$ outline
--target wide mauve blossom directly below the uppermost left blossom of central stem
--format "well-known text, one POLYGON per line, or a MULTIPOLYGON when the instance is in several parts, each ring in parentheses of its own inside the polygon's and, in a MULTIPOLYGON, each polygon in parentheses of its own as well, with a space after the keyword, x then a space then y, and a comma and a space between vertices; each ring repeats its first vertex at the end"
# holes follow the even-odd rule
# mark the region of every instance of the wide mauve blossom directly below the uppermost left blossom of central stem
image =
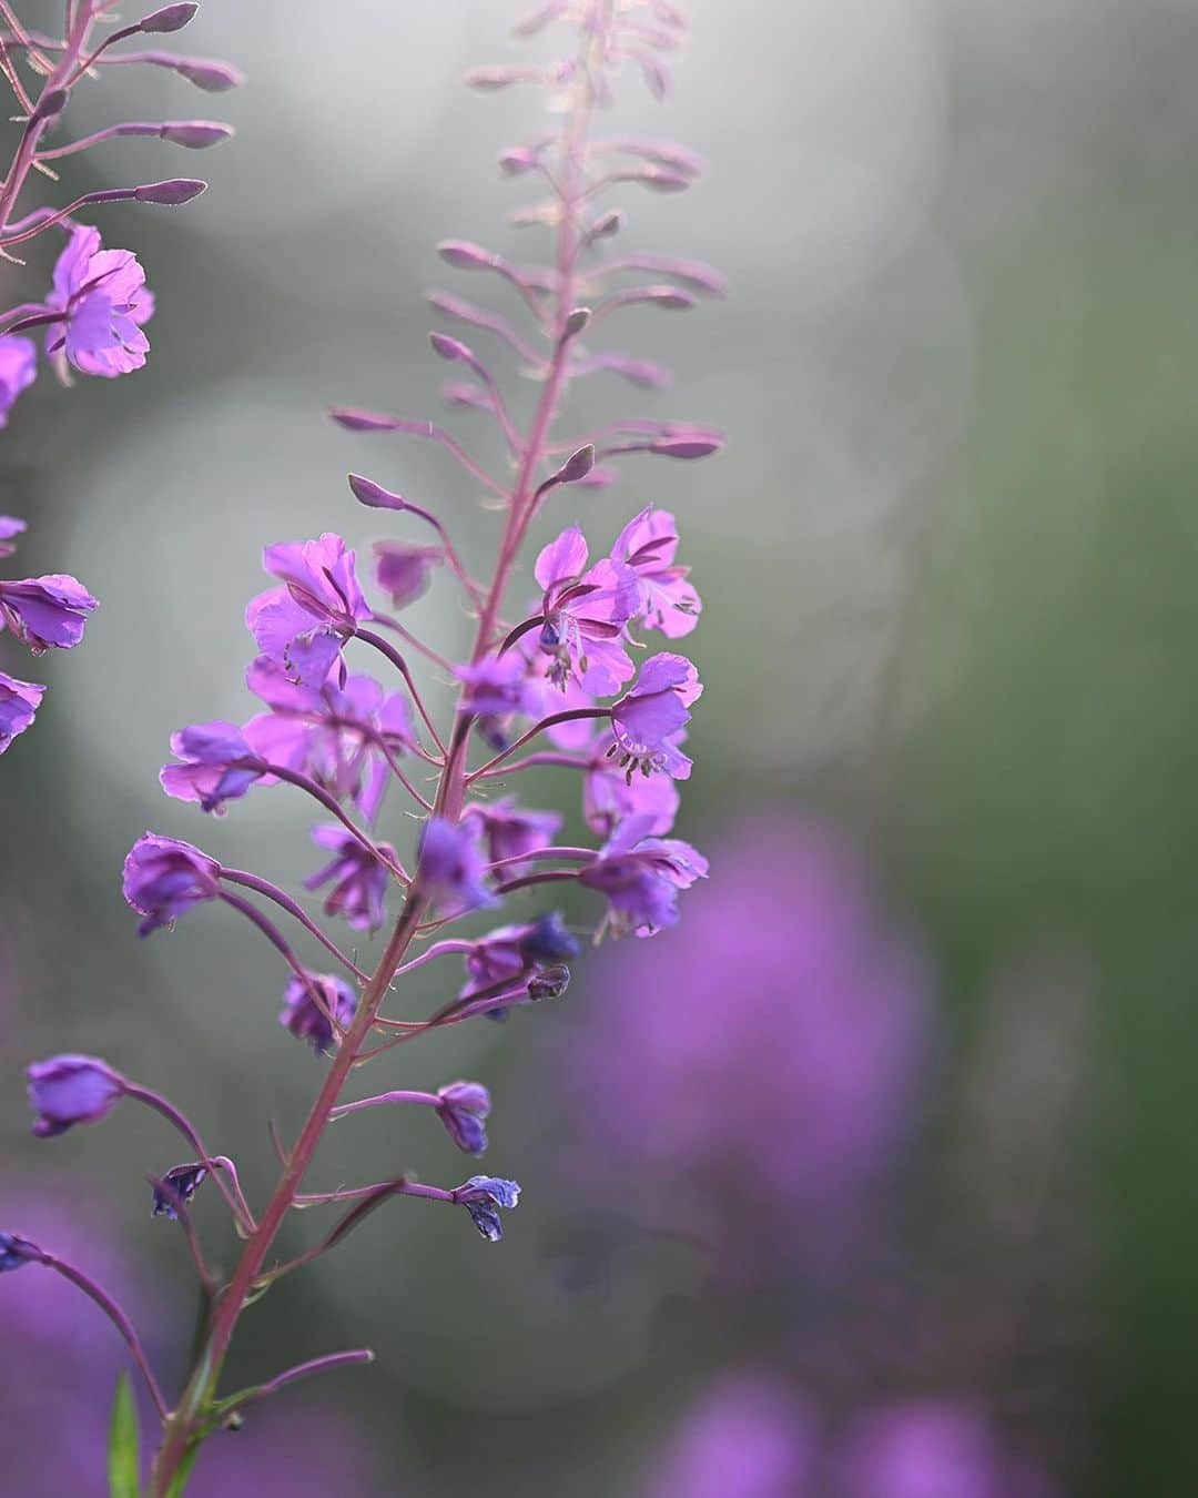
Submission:
MULTIPOLYGON (((386 695, 371 676, 338 683, 337 667, 320 686, 288 680, 286 668, 258 656, 246 685, 271 709, 241 730, 253 752, 268 764, 311 776, 338 801, 350 797, 373 819, 389 777, 386 755, 406 753, 415 743, 412 706, 398 692, 386 695)), ((273 785, 274 776, 264 776, 273 785)))

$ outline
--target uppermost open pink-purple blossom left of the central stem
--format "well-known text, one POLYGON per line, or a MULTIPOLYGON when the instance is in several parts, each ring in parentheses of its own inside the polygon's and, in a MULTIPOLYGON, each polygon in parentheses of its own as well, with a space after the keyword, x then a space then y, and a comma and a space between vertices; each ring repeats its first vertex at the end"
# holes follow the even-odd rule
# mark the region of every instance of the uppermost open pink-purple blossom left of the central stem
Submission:
POLYGON ((262 566, 280 578, 252 598, 246 625, 258 649, 286 668, 289 680, 320 686, 341 646, 370 619, 355 556, 326 530, 317 541, 283 541, 267 547, 262 566))

